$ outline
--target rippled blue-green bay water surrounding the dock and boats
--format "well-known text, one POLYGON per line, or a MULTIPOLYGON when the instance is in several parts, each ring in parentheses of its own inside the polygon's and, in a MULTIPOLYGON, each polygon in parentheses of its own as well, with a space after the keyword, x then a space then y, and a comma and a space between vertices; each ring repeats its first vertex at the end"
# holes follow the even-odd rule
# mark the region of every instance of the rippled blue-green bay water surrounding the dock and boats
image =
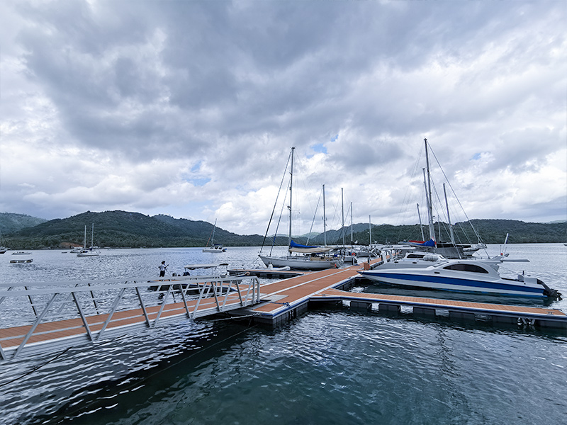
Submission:
MULTIPOLYGON (((34 251, 34 262, 21 265, 4 254, 0 281, 150 276, 162 260, 169 272, 217 260, 249 267, 257 251, 123 249, 93 258, 34 251)), ((506 268, 537 273, 567 295, 567 246, 511 245, 508 252, 531 262, 506 268)), ((567 301, 551 307, 567 312, 567 301)), ((188 320, 58 353, 0 362, 1 424, 531 425, 567 417, 561 332, 344 307, 313 310, 278 329, 188 320)))

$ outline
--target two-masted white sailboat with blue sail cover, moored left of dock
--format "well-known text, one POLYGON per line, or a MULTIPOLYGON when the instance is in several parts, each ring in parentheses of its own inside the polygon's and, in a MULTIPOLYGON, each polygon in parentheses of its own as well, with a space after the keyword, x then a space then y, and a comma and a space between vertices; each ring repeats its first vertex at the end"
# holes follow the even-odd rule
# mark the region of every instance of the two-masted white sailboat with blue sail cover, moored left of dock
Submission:
MULTIPOLYGON (((295 147, 291 148, 291 172, 289 179, 289 233, 288 233, 288 255, 286 256, 273 256, 271 255, 271 250, 269 255, 262 255, 262 249, 260 249, 260 254, 258 255, 266 267, 289 267, 296 270, 325 270, 326 268, 337 268, 342 266, 342 259, 339 256, 329 255, 330 251, 335 249, 334 246, 327 246, 327 232, 326 232, 326 217, 325 217, 325 185, 323 185, 323 225, 325 228, 325 246, 313 246, 313 245, 302 245, 293 242, 291 239, 291 219, 292 219, 292 208, 291 200, 293 193, 293 153, 295 147)), ((286 166, 287 169, 287 166, 286 166)), ((277 199, 276 199, 277 203, 277 199)), ((275 210, 275 206, 274 206, 275 210)), ((269 229, 269 225, 268 225, 269 229)), ((266 235, 268 231, 266 230, 266 235)), ((265 237, 264 237, 265 239, 265 237)), ((275 237, 274 237, 275 239, 275 237)), ((271 248, 274 246, 272 244, 271 248)))

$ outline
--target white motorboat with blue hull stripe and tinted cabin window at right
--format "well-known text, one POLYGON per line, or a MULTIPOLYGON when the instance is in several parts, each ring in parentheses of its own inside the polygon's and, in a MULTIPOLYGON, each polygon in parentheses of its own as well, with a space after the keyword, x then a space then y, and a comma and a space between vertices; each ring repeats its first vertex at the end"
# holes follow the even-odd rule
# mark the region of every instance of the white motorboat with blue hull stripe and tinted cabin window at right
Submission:
POLYGON ((561 299, 561 293, 549 288, 538 278, 519 274, 503 278, 498 273, 498 260, 446 260, 428 267, 376 268, 359 271, 370 280, 415 288, 451 290, 463 293, 550 297, 561 299))

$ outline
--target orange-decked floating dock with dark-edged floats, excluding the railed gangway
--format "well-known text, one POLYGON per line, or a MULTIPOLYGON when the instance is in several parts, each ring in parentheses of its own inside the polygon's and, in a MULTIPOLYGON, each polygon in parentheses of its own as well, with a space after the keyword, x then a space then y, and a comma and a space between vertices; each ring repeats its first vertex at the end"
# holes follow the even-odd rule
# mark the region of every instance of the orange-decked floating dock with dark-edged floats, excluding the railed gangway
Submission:
POLYGON ((351 288, 355 280, 360 278, 359 270, 372 268, 379 263, 381 259, 375 259, 369 263, 308 273, 304 276, 262 285, 262 302, 259 305, 235 310, 230 314, 252 314, 254 322, 277 325, 307 311, 310 303, 349 302, 351 308, 365 310, 371 310, 373 305, 378 305, 378 312, 400 312, 404 306, 411 307, 416 316, 435 317, 439 312, 448 312, 451 319, 473 320, 477 317, 489 317, 495 324, 517 323, 567 329, 567 314, 556 309, 352 293, 342 290, 351 288))

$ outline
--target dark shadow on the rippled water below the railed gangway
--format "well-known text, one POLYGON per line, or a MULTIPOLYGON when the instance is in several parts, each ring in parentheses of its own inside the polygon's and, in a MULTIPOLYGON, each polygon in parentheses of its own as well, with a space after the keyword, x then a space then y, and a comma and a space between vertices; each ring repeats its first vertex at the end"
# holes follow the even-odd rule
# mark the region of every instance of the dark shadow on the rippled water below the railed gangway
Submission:
POLYGON ((204 322, 193 328, 191 334, 179 336, 169 332, 169 342, 167 334, 151 341, 151 337, 138 333, 141 342, 130 335, 94 348, 72 348, 46 370, 28 370, 33 373, 22 373, 21 379, 8 382, 8 394, 4 394, 8 402, 30 387, 43 386, 43 390, 26 399, 30 406, 38 399, 42 399, 41 403, 6 423, 91 425, 119 420, 124 417, 124 406, 137 410, 167 397, 174 382, 186 375, 198 375, 199 370, 244 339, 249 329, 238 324, 204 322), (60 382, 52 390, 52 382, 43 379, 45 375, 66 375, 70 390, 62 389, 60 382))

